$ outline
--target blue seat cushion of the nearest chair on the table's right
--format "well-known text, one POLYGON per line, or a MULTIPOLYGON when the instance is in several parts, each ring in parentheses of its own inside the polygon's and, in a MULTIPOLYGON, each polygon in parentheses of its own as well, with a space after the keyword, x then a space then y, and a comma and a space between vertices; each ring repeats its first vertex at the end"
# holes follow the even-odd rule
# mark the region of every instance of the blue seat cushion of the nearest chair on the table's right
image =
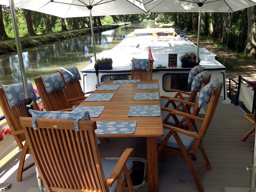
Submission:
MULTIPOLYGON (((157 137, 157 144, 161 144, 163 139, 166 137, 166 135, 169 133, 169 129, 163 129, 163 137, 157 137)), ((191 131, 192 133, 195 133, 197 134, 196 132, 194 131, 191 131)), ((177 133, 183 143, 183 145, 185 146, 186 150, 189 150, 189 148, 191 148, 191 146, 193 145, 194 141, 195 141, 195 138, 194 137, 189 137, 189 136, 186 136, 184 134, 180 134, 180 133, 177 133)), ((166 147, 171 147, 171 148, 177 148, 177 149, 180 149, 179 145, 177 144, 175 138, 173 137, 173 135, 169 138, 169 140, 167 141, 166 147)))

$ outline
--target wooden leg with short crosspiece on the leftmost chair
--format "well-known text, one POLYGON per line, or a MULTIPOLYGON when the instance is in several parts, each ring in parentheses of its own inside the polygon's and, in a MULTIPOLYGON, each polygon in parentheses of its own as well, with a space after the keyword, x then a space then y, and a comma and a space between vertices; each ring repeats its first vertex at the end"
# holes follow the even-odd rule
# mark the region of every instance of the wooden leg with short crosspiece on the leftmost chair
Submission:
POLYGON ((17 181, 22 180, 22 174, 24 171, 26 171, 27 169, 29 169, 35 165, 35 163, 33 162, 33 163, 30 163, 29 165, 27 165, 26 167, 24 167, 25 158, 26 158, 26 154, 27 154, 28 150, 29 150, 29 144, 25 141, 24 147, 23 147, 23 149, 21 149, 20 163, 19 163, 19 167, 18 167, 18 171, 17 171, 17 181))

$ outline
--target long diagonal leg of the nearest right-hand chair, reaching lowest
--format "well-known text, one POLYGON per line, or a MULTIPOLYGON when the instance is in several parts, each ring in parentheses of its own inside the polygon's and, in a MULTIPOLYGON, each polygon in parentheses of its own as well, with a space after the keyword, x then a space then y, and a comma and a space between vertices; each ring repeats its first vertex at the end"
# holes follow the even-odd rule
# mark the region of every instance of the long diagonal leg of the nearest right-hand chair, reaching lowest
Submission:
POLYGON ((203 188, 203 185, 201 183, 201 180, 200 180, 200 177, 195 169, 195 166, 194 164, 192 163, 192 160, 190 159, 189 157, 189 154, 188 154, 188 151, 186 150, 186 148, 184 147, 182 141, 180 140, 180 137, 178 136, 178 134, 175 132, 175 131, 172 131, 173 132, 173 136, 175 137, 175 140, 177 141, 179 147, 180 147, 180 150, 189 166, 189 169, 190 169, 190 172, 195 180, 195 185, 198 189, 199 192, 204 192, 204 188, 203 188))

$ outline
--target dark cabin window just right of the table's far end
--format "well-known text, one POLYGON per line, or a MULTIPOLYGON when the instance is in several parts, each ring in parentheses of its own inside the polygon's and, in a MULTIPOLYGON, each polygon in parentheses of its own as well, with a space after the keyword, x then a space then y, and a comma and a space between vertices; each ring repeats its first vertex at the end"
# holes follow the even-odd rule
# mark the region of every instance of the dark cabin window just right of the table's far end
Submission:
POLYGON ((169 89, 191 91, 188 87, 189 73, 166 73, 163 75, 163 90, 169 92, 169 89))

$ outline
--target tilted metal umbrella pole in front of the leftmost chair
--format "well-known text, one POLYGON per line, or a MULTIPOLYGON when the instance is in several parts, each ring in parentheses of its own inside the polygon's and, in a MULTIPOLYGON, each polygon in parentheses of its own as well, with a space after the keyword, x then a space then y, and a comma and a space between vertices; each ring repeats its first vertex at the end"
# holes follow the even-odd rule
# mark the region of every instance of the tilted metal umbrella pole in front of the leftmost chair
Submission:
POLYGON ((9 0, 9 4, 10 4, 10 9, 11 9, 11 15, 12 15, 12 25, 13 25, 14 34, 15 34, 15 43, 16 43, 19 64, 20 64, 21 78, 22 78, 23 87, 24 87, 24 91, 25 91, 25 97, 26 97, 26 99, 28 99, 29 98, 29 90, 28 90, 28 85, 26 83, 26 73, 25 73, 25 67, 24 67, 24 63, 23 63, 22 49, 21 49, 21 44, 20 44, 20 35, 19 35, 19 31, 18 31, 18 26, 17 26, 15 7, 14 7, 13 0, 9 0))

